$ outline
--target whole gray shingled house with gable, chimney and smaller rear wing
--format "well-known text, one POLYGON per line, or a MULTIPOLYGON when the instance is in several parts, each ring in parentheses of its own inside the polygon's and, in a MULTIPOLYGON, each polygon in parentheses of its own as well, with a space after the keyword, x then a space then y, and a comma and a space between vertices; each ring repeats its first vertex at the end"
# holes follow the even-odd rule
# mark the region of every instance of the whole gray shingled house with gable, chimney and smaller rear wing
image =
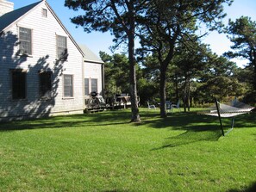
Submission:
POLYGON ((82 114, 84 94, 103 92, 103 62, 87 59, 46 1, 13 7, 0 0, 0 121, 82 114))

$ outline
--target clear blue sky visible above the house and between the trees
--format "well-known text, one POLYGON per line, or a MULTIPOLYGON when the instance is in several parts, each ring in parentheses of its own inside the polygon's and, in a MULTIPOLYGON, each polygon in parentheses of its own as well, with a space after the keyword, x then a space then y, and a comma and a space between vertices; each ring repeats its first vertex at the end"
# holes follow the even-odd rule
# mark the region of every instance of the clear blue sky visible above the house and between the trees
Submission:
MULTIPOLYGON (((30 3, 38 2, 38 0, 9 0, 15 3, 15 9, 22 6, 26 6, 30 3)), ((53 8, 54 12, 59 16, 61 22, 64 23, 68 31, 72 34, 72 37, 78 42, 78 44, 85 44, 91 51, 98 55, 99 51, 111 53, 109 46, 113 45, 112 37, 109 33, 92 32, 86 34, 83 28, 78 27, 70 22, 70 18, 78 13, 64 7, 64 0, 47 0, 47 3, 53 8)), ((253 21, 256 21, 256 1, 255 0, 234 0, 234 3, 228 7, 225 6, 224 12, 227 13, 226 18, 223 20, 225 24, 228 24, 228 19, 232 21, 239 18, 241 15, 249 16, 253 21)), ((218 34, 217 32, 211 32, 207 37, 203 38, 203 42, 210 45, 211 50, 218 55, 230 50, 231 42, 226 37, 226 34, 218 34)), ((234 59, 239 66, 245 65, 247 60, 234 59)))

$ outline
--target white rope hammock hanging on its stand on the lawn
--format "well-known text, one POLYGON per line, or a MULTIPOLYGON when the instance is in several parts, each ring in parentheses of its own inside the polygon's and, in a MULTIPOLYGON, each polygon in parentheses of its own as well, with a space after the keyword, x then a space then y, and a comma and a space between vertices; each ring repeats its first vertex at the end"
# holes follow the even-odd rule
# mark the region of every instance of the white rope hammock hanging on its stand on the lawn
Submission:
POLYGON ((209 112, 204 113, 204 115, 211 115, 211 116, 217 116, 219 117, 219 121, 222 128, 222 135, 227 135, 230 131, 234 128, 234 116, 247 114, 251 110, 253 110, 253 107, 243 103, 239 102, 236 99, 231 102, 231 105, 222 104, 221 102, 217 102, 215 99, 215 107, 211 107, 209 112), (232 117, 232 123, 231 128, 228 130, 227 133, 224 133, 223 127, 222 127, 222 117, 232 117))

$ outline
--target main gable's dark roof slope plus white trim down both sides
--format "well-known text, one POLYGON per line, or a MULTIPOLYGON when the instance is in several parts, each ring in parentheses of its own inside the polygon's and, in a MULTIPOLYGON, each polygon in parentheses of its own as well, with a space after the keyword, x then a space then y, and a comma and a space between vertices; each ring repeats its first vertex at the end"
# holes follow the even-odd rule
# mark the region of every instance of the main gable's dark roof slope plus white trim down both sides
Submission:
POLYGON ((63 23, 59 20, 59 17, 55 14, 55 12, 51 8, 51 6, 47 3, 46 0, 41 0, 40 2, 29 4, 28 6, 13 10, 9 13, 6 13, 0 16, 0 33, 4 29, 8 28, 12 23, 17 22, 17 20, 22 18, 22 16, 28 14, 30 10, 34 9, 40 3, 46 3, 47 8, 51 11, 54 18, 57 20, 57 22, 59 22, 59 25, 65 30, 66 34, 68 34, 68 37, 72 40, 74 45, 78 48, 78 51, 84 56, 84 52, 82 51, 82 49, 78 46, 77 42, 72 38, 72 35, 68 32, 68 30, 65 28, 63 23))

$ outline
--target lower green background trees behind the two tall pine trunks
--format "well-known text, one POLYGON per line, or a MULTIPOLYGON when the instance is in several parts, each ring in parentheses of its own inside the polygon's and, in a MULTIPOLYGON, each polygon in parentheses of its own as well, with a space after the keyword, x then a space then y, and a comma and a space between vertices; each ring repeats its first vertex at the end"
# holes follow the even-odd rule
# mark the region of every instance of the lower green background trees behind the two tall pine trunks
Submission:
MULTIPOLYGON (((128 57, 125 53, 100 52, 105 63, 105 96, 129 93, 128 57)), ((136 57, 137 90, 140 104, 159 100, 160 65, 157 54, 136 57)), ((209 46, 190 42, 177 46, 166 70, 166 101, 183 101, 185 110, 212 103, 216 97, 230 101, 234 96, 255 103, 252 66, 238 67, 227 57, 212 53, 209 46)))

